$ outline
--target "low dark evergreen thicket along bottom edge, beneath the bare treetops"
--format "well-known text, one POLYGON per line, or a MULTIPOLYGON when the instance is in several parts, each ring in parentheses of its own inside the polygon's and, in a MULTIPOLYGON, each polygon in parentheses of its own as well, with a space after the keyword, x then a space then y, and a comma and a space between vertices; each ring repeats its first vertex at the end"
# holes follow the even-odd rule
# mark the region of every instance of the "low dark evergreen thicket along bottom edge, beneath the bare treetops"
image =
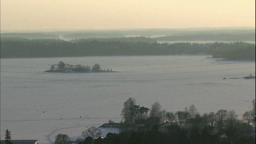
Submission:
MULTIPOLYGON (((242 124, 241 124, 242 125, 242 124)), ((237 129, 240 136, 234 138, 222 138, 215 134, 216 130, 212 126, 198 128, 192 126, 190 129, 182 128, 177 125, 165 127, 165 132, 160 131, 158 126, 153 126, 146 131, 129 131, 108 133, 104 138, 87 137, 76 144, 255 144, 255 137, 242 136, 251 127, 245 124, 237 129), (233 143, 232 143, 233 142, 233 143)))

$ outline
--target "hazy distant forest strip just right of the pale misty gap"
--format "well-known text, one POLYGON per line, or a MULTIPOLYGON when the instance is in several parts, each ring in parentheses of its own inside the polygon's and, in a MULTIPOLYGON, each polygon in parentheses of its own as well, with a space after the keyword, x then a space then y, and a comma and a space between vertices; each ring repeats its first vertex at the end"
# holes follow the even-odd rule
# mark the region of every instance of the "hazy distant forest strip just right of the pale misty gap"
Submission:
POLYGON ((123 34, 117 33, 80 33, 80 34, 64 34, 63 38, 80 39, 80 38, 121 38, 125 37, 123 34))

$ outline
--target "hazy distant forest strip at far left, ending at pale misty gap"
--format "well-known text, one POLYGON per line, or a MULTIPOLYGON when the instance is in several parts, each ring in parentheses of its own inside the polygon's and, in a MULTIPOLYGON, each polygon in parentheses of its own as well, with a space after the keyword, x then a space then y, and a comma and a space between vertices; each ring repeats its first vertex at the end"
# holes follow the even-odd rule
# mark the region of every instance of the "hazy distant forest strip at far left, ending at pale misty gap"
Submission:
POLYGON ((2 37, 10 37, 10 38, 27 38, 27 39, 54 39, 59 38, 56 34, 41 34, 41 33, 2 33, 2 37))

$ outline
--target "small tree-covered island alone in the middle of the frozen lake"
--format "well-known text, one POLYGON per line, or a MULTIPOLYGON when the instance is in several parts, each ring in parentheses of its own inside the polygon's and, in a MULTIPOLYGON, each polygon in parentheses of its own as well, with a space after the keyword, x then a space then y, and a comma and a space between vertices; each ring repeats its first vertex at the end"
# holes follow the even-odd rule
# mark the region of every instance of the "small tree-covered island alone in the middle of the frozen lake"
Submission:
POLYGON ((50 70, 46 70, 45 72, 114 72, 112 68, 104 68, 100 67, 100 64, 94 64, 92 68, 88 65, 84 66, 82 64, 65 64, 60 61, 58 64, 52 64, 50 70))

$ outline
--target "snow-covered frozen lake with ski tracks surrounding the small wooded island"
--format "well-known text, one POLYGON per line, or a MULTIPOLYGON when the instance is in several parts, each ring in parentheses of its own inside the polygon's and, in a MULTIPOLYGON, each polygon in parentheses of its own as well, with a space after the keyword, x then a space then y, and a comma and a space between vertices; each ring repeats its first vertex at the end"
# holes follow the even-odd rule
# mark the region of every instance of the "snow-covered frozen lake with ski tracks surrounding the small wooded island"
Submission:
MULTIPOLYGON (((1 139, 53 143, 59 133, 73 140, 90 126, 122 120, 124 102, 176 112, 194 104, 200 114, 236 110, 239 118, 255 98, 255 62, 197 56, 98 56, 1 59, 1 139), (112 68, 109 73, 48 73, 51 64, 112 68), (226 78, 225 80, 223 78, 226 78), (238 78, 238 79, 230 79, 238 78), (81 118, 80 118, 81 116, 81 118)), ((117 129, 102 129, 102 136, 117 129)))

